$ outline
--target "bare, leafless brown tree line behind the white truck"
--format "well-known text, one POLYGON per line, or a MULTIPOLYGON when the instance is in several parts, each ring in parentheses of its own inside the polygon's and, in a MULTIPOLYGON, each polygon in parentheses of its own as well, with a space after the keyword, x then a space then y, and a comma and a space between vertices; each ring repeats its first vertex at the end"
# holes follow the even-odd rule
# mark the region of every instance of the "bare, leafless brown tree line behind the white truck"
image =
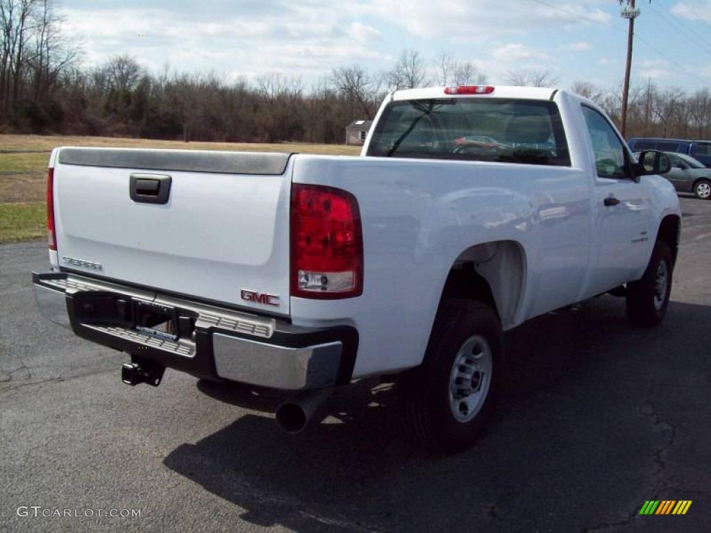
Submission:
MULTIPOLYGON (((184 141, 341 143, 355 119, 372 119, 387 92, 488 82, 471 60, 403 50, 389 70, 333 69, 309 87, 299 77, 255 80, 213 73, 148 72, 117 55, 87 68, 61 33, 53 0, 0 0, 0 131, 133 136, 184 141)), ((550 86, 550 71, 510 70, 510 85, 550 86)), ((575 82, 619 123, 621 86, 575 82)), ((630 136, 711 137, 711 94, 648 82, 631 90, 630 136)))

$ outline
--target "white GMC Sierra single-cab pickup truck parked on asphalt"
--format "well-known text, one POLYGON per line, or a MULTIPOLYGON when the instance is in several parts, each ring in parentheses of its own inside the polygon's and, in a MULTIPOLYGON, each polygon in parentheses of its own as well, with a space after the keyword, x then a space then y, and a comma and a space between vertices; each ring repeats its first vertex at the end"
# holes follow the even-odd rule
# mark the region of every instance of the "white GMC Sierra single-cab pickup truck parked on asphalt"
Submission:
POLYGON ((502 331, 611 292, 665 314, 680 238, 668 158, 638 163, 563 90, 387 96, 360 157, 63 147, 49 162, 43 314, 165 367, 294 391, 300 431, 334 387, 394 377, 429 448, 469 446, 502 331))

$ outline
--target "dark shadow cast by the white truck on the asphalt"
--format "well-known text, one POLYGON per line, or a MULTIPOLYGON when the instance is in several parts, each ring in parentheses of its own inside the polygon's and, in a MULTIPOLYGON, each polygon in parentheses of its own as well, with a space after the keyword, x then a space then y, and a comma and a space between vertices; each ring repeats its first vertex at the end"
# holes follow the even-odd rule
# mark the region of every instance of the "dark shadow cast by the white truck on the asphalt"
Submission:
MULTIPOLYGON (((680 499, 711 479, 699 466, 702 445, 680 438, 688 426, 705 426, 695 428, 705 442, 711 432, 703 323, 711 324, 711 307, 672 302, 659 328, 635 329, 624 301, 603 297, 510 331, 498 411, 476 446, 454 456, 410 443, 393 387, 370 380, 342 389, 324 421, 298 436, 279 431, 272 416, 247 414, 178 446, 164 464, 237 505, 235 519, 296 532, 624 524, 638 519, 644 500, 680 499)), ((262 412, 286 397, 198 387, 262 412)))

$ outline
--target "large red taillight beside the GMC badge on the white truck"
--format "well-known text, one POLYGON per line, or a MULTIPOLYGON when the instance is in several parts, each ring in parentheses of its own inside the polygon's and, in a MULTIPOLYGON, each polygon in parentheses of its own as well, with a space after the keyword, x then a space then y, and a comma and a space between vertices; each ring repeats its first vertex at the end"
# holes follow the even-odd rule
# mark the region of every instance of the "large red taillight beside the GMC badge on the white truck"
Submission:
POLYGON ((363 293, 358 201, 345 190, 292 185, 292 296, 351 298, 363 293))

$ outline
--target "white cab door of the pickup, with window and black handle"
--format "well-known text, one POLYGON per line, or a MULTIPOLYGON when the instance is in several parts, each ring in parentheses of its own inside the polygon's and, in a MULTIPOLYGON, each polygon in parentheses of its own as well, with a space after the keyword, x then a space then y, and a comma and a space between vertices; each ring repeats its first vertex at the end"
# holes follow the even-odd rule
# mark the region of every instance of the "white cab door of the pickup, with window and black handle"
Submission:
POLYGON ((649 186, 631 178, 624 141, 596 109, 583 106, 583 115, 594 155, 593 262, 587 287, 592 296, 634 279, 656 236, 649 186))

